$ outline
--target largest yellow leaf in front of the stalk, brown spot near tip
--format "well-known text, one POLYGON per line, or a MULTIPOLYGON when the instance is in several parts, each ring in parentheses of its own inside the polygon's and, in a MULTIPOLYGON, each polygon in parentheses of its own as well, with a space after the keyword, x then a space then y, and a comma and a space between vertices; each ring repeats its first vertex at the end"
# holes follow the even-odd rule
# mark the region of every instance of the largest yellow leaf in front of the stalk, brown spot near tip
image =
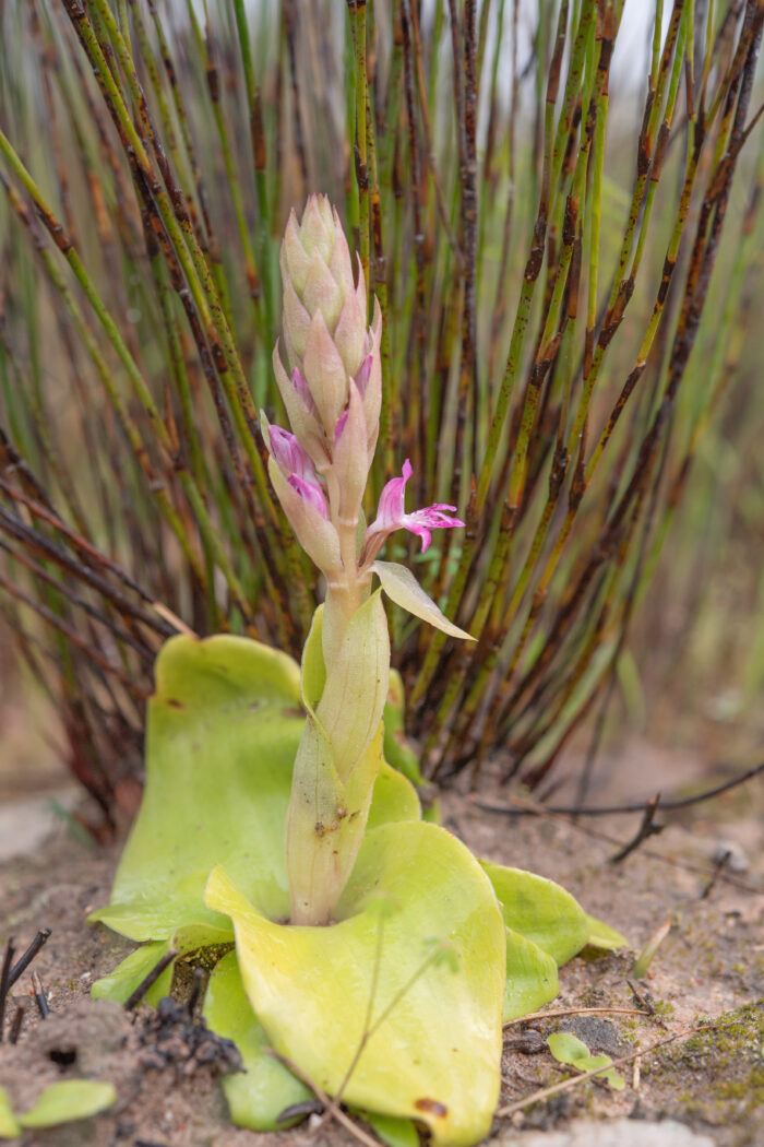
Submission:
POLYGON ((234 921, 244 986, 270 1041, 315 1083, 330 1094, 344 1083, 373 992, 347 1103, 423 1121, 435 1145, 487 1134, 506 930, 489 881, 455 837, 422 821, 369 832, 330 928, 274 923, 222 868, 206 897, 234 921), (438 959, 446 949, 456 973, 438 959))

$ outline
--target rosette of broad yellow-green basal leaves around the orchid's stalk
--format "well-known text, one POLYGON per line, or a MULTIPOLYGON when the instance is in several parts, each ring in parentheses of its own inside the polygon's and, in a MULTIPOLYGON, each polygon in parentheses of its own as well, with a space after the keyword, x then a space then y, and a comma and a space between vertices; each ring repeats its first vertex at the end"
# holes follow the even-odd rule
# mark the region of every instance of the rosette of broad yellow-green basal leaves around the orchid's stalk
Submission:
MULTIPOLYGON (((291 658, 245 638, 163 649, 143 803, 111 904, 90 918, 148 943, 94 994, 124 1001, 171 947, 179 959, 206 949, 222 959, 205 1017, 244 1060, 223 1083, 236 1123, 284 1126, 281 1113, 308 1095, 273 1046, 391 1140, 416 1119, 434 1142, 466 1147, 490 1125, 502 1021, 552 999, 558 963, 585 944, 622 937, 551 881, 479 865, 420 820, 415 788, 384 760, 336 923, 285 923, 284 830, 302 699, 315 713, 324 695, 320 646, 321 615, 301 681, 291 658)), ((394 701, 385 738, 401 748, 394 701)), ((379 735, 372 744, 379 754, 379 735)))

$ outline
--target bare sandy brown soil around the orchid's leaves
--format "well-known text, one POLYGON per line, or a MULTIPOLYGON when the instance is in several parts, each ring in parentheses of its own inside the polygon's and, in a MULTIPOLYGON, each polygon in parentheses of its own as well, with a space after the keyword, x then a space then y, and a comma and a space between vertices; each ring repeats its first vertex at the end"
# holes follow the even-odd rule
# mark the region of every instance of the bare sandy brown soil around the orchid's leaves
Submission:
MULTIPOLYGON (((664 781, 671 775, 667 760, 653 755, 649 768, 635 771, 648 790, 655 779, 651 768, 657 768, 664 781)), ((680 781, 682 770, 675 777, 680 781)), ((640 795, 639 787, 635 785, 635 795, 640 795)), ((503 794, 494 789, 488 797, 498 803, 503 794)), ((7 804, 6 814, 11 809, 7 804)), ((633 953, 597 959, 584 953, 562 969, 560 996, 546 1009, 577 1014, 550 1015, 506 1029, 502 1107, 514 1105, 514 1109, 497 1118, 489 1142, 533 1147, 548 1141, 549 1147, 574 1147, 586 1141, 607 1147, 611 1141, 631 1141, 627 1132, 638 1130, 635 1122, 645 1129, 635 1144, 659 1142, 648 1136, 648 1128, 663 1136, 661 1142, 676 1147, 685 1141, 694 1147, 764 1142, 763 813, 759 780, 712 804, 667 816, 660 836, 622 864, 612 865, 608 857, 616 850, 615 842, 633 834, 638 818, 572 825, 566 818, 487 813, 456 793, 443 798, 444 822, 479 856, 560 880, 589 912, 620 928, 635 950, 671 920, 671 931, 639 985, 652 1015, 583 1012, 638 1006, 627 983, 633 953), (735 863, 746 868, 723 874, 708 890, 714 852, 725 842, 734 845, 735 863), (664 1048, 656 1046, 704 1020, 716 1020, 719 1027, 684 1036, 664 1048), (565 1028, 593 1052, 614 1059, 639 1051, 639 1058, 622 1069, 624 1091, 615 1093, 605 1084, 589 1082, 520 1108, 536 1090, 569 1074, 544 1045, 546 1035, 565 1028), (616 1132, 619 1139, 607 1138, 616 1132)), ((118 1091, 118 1101, 108 1114, 27 1133, 24 1147, 344 1147, 354 1142, 336 1123, 316 1126, 316 1117, 278 1134, 233 1131, 219 1085, 222 1061, 213 1058, 211 1063, 184 1070, 150 1066, 156 1060, 150 1054, 156 1038, 152 1011, 142 1008, 137 1016, 128 1016, 116 1005, 92 1002, 88 994, 93 980, 129 950, 127 942, 105 928, 85 923, 87 912, 108 898, 117 849, 87 849, 58 820, 45 842, 30 845, 27 840, 22 851, 0 865, 0 943, 13 935, 22 950, 39 928, 53 930, 34 963, 49 993, 50 1016, 40 1021, 25 976, 9 1006, 11 1014, 19 1004, 26 1006, 24 1024, 16 1045, 0 1046, 0 1083, 17 1109, 30 1106, 42 1086, 56 1079, 109 1079, 118 1091)))

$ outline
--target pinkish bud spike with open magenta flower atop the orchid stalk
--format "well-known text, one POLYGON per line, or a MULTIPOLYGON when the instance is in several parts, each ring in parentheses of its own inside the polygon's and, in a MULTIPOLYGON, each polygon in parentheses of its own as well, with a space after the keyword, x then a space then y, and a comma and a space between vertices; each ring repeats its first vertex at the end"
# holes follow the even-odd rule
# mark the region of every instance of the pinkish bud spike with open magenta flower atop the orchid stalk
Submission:
POLYGON ((325 196, 312 195, 302 221, 290 216, 281 251, 284 345, 274 370, 292 432, 263 420, 269 473, 297 538, 326 578, 324 651, 337 648, 347 622, 368 595, 371 567, 387 536, 401 526, 422 537, 462 525, 452 506, 403 510, 403 477, 385 486, 376 521, 359 544, 359 520, 379 434, 381 314, 375 299, 367 326, 367 290, 357 283, 341 224, 325 196))

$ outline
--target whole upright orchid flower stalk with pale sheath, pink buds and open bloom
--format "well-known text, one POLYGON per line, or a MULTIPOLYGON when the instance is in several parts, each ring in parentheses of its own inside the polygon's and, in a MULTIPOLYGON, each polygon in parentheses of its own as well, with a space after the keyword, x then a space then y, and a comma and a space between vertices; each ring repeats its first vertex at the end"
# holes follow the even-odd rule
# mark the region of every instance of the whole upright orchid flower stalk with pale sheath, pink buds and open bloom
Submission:
POLYGON ((268 471, 298 541, 325 579, 302 657, 306 731, 294 763, 286 825, 291 920, 326 924, 353 868, 381 764, 381 718, 389 639, 377 574, 388 596, 454 635, 450 625, 394 563, 377 563, 387 537, 407 529, 427 549, 432 530, 463 525, 456 507, 407 514, 405 484, 392 478, 363 530, 363 499, 379 435, 381 312, 367 289, 337 212, 325 196, 292 211, 281 250, 283 346, 274 372, 291 431, 262 414, 268 471), (357 278, 357 282, 356 282, 357 278), (285 361, 282 359, 282 350, 285 361))

